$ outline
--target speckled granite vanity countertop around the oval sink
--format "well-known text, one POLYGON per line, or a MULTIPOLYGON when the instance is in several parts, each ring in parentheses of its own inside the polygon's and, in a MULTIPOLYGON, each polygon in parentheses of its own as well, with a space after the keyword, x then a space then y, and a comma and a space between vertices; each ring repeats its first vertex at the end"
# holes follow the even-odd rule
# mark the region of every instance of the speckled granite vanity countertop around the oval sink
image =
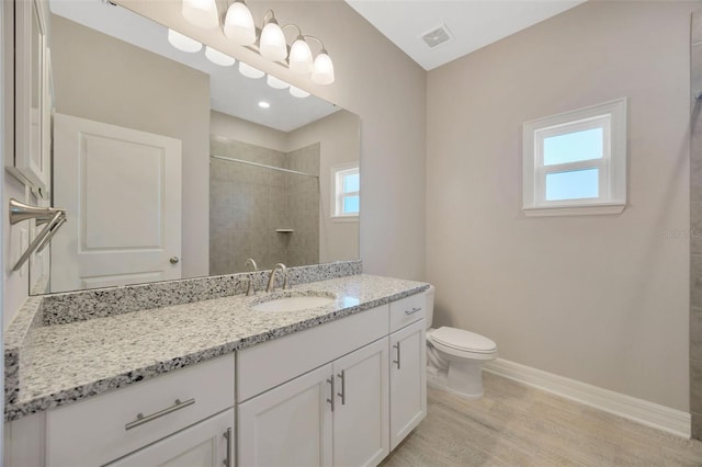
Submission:
POLYGON ((38 326, 21 349, 19 392, 5 420, 76 402, 426 291, 429 284, 366 274, 235 295, 67 324, 38 326), (327 293, 301 311, 254 311, 265 296, 327 293))

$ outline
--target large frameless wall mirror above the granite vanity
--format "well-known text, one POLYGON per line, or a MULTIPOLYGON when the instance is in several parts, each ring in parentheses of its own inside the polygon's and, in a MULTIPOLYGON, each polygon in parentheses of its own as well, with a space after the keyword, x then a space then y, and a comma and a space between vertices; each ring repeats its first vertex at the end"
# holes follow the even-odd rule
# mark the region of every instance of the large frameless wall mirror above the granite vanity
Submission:
POLYGON ((177 49, 110 2, 49 9, 53 195, 69 223, 48 292, 359 258, 356 115, 177 49))

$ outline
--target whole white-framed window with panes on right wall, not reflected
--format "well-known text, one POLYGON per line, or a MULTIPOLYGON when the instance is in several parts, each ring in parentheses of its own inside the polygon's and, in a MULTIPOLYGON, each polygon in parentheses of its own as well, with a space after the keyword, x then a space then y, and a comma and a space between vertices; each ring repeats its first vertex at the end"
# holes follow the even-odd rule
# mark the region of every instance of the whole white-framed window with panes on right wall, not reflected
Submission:
POLYGON ((619 214, 626 205, 626 99, 523 125, 528 216, 619 214))

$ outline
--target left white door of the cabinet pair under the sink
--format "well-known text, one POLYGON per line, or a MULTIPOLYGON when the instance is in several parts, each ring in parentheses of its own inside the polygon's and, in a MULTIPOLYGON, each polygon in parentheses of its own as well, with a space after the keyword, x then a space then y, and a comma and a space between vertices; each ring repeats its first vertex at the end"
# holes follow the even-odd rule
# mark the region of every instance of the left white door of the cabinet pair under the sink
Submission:
POLYGON ((240 467, 331 465, 331 371, 327 364, 239 405, 240 467))

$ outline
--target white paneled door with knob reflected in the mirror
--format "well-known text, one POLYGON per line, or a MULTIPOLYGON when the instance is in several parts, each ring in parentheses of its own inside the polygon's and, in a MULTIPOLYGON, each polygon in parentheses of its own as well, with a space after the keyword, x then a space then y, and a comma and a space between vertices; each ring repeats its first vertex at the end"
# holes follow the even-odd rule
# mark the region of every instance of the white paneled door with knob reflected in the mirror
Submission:
POLYGON ((181 277, 180 140, 56 114, 54 161, 52 292, 181 277))

